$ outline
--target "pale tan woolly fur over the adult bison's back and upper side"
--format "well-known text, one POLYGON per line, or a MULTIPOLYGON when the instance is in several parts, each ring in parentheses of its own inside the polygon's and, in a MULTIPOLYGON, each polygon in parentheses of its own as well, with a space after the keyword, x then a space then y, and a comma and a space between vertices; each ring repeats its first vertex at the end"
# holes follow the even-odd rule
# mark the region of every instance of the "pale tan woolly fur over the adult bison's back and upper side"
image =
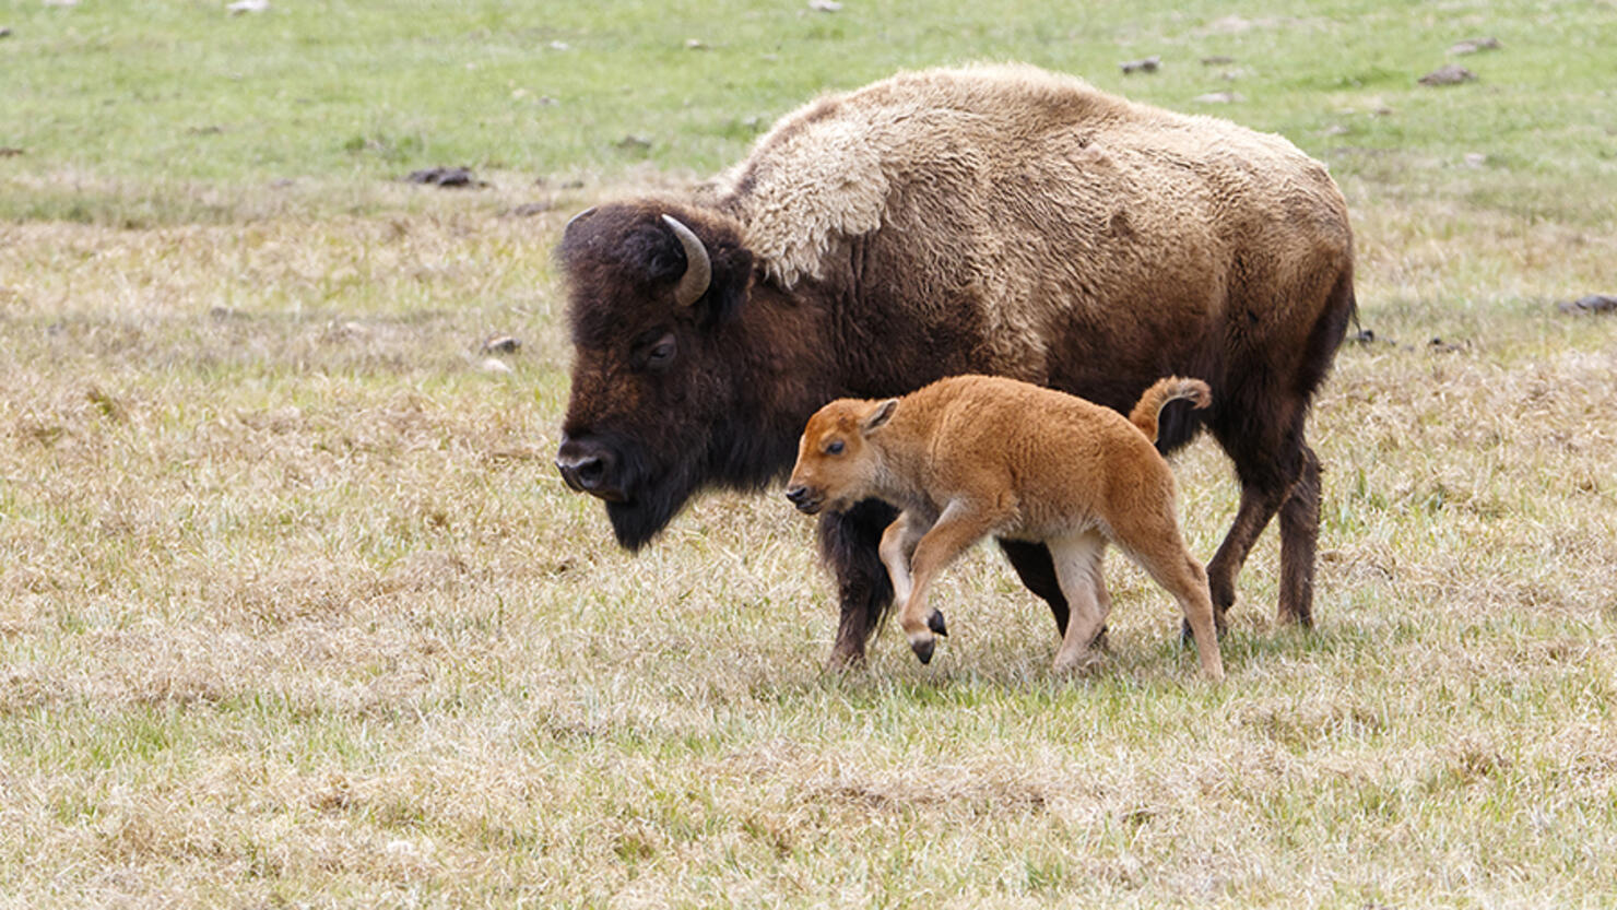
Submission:
POLYGON ((1352 246, 1324 165, 1287 139, 1017 63, 899 73, 821 97, 699 197, 736 218, 784 286, 821 278, 839 242, 883 226, 938 239, 969 230, 969 244, 917 251, 931 262, 915 270, 978 291, 994 372, 1033 381, 1048 328, 1069 317, 1051 286, 1122 307, 1143 304, 1142 262, 1218 288, 1232 242, 1287 273, 1340 262, 1352 246), (1109 233, 1129 242, 1093 236, 1109 233), (1054 260, 1053 249, 1075 255, 1054 260))

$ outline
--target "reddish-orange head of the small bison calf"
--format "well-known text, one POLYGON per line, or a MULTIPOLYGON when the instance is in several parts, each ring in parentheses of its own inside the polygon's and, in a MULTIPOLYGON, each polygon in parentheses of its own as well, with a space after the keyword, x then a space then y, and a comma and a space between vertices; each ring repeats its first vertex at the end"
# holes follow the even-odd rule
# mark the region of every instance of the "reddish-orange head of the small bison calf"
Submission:
POLYGON ((872 436, 893 419, 897 404, 896 398, 842 398, 808 419, 797 441, 797 466, 786 483, 786 498, 797 511, 841 512, 876 491, 881 449, 872 436))

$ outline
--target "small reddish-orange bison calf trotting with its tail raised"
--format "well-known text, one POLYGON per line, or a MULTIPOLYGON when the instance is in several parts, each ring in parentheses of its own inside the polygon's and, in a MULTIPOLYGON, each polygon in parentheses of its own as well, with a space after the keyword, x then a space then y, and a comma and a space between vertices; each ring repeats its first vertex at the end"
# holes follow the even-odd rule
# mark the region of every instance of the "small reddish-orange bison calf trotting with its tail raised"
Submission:
POLYGON ((880 553, 922 663, 944 630, 927 609, 928 585, 996 535, 1049 548, 1072 609, 1054 668, 1079 666, 1111 608, 1101 582, 1109 540, 1179 600, 1203 674, 1222 679, 1208 577, 1179 535, 1174 475, 1155 448, 1158 412, 1180 398, 1206 407, 1211 393, 1200 380, 1158 380, 1127 419, 1003 377, 946 378, 884 401, 844 398, 808 419, 786 496, 808 514, 867 498, 901 509, 880 553))

